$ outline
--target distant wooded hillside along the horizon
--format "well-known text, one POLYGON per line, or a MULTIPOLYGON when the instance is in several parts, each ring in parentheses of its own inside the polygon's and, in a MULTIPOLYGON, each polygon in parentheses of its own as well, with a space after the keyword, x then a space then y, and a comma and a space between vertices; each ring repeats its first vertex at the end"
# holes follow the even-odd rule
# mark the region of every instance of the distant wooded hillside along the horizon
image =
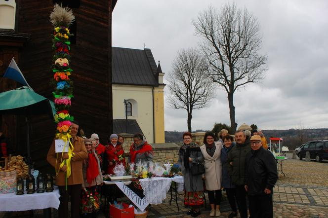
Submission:
MULTIPOLYGON (((288 129, 288 130, 262 130, 268 144, 270 137, 283 138, 283 145, 289 150, 311 140, 328 140, 328 129, 288 129)), ((206 130, 196 130, 195 132, 206 132, 206 130)), ((184 132, 165 131, 165 142, 181 143, 184 132)))

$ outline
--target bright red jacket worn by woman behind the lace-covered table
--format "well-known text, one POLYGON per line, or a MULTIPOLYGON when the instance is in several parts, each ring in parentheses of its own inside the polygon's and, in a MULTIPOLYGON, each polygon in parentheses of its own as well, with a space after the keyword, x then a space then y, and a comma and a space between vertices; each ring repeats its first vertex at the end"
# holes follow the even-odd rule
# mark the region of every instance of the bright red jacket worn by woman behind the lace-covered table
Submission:
POLYGON ((116 163, 120 164, 123 163, 125 166, 125 159, 123 158, 122 161, 119 161, 119 155, 124 155, 123 146, 121 144, 117 144, 115 147, 112 144, 109 144, 106 146, 106 154, 107 154, 107 161, 108 161, 108 167, 107 167, 107 174, 114 174, 113 170, 116 166, 116 163), (113 165, 109 165, 110 162, 113 162, 113 165))

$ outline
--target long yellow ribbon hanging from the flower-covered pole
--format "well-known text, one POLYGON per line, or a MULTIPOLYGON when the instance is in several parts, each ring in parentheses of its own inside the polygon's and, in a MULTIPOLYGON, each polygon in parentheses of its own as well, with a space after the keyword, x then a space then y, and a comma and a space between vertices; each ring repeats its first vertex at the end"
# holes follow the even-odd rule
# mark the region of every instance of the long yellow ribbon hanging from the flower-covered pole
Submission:
POLYGON ((65 143, 65 146, 63 148, 63 152, 62 152, 62 162, 59 166, 59 169, 58 169, 58 172, 57 172, 57 158, 58 158, 58 153, 57 153, 57 157, 56 157, 56 176, 58 175, 59 173, 59 170, 64 166, 66 165, 66 177, 69 178, 71 176, 71 173, 72 173, 72 168, 71 168, 71 159, 72 157, 74 157, 74 153, 73 153, 73 150, 74 150, 74 146, 72 145, 71 143, 71 134, 67 133, 67 134, 62 134, 62 133, 57 133, 56 134, 56 138, 57 139, 61 139, 64 141, 65 143), (65 159, 63 160, 63 154, 64 154, 64 150, 66 148, 66 142, 69 141, 70 144, 68 145, 68 159, 65 159), (66 161, 66 162, 65 162, 66 161))

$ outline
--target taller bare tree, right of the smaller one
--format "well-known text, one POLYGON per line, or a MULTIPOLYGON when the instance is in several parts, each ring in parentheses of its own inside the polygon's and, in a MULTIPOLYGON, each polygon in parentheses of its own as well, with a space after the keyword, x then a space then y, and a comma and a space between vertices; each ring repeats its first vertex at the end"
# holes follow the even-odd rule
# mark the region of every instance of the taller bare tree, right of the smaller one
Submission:
POLYGON ((267 57, 258 54, 262 40, 257 18, 246 8, 226 4, 220 12, 209 6, 193 25, 203 39, 201 48, 209 76, 228 94, 231 128, 236 131, 234 93, 263 79, 266 71, 267 57))

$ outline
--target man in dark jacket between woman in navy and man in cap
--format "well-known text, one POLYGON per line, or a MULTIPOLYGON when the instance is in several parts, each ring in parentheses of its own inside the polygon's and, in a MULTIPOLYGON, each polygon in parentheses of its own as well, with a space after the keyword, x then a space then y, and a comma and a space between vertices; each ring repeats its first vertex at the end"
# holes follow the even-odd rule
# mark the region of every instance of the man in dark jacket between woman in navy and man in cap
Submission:
POLYGON ((236 146, 228 153, 228 173, 231 182, 236 185, 236 198, 241 218, 247 218, 246 191, 245 191, 245 159, 251 150, 249 138, 242 130, 235 133, 236 146))

